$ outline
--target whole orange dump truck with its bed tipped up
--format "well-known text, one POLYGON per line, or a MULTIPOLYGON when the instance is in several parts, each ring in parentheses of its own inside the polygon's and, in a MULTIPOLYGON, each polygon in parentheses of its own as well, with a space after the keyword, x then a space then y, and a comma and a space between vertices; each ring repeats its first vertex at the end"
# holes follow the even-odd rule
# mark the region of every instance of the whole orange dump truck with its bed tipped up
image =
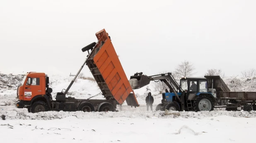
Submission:
POLYGON ((88 55, 77 75, 86 64, 106 98, 105 100, 66 97, 77 75, 67 89, 57 92, 56 100, 53 100, 49 77, 45 73, 29 72, 24 76, 22 85, 17 89, 19 101, 16 102, 16 107, 27 108, 31 113, 50 110, 116 111, 116 105, 121 105, 124 101, 130 106, 138 107, 138 101, 118 59, 110 36, 103 29, 96 33, 96 37, 97 42, 82 48, 82 52, 87 51, 88 55))

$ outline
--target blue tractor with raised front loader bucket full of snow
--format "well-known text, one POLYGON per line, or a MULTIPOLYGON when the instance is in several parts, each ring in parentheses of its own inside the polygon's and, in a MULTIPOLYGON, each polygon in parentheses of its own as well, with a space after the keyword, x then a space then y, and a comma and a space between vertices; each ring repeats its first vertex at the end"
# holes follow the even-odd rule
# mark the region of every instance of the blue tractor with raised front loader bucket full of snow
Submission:
MULTIPOLYGON (((215 104, 215 96, 209 91, 208 79, 205 77, 184 77, 178 84, 171 73, 159 75, 142 75, 135 73, 130 79, 137 79, 139 89, 149 84, 150 81, 164 82, 168 89, 162 93, 162 103, 156 110, 176 111, 212 111, 215 104)), ((213 91, 213 90, 212 90, 213 91)))

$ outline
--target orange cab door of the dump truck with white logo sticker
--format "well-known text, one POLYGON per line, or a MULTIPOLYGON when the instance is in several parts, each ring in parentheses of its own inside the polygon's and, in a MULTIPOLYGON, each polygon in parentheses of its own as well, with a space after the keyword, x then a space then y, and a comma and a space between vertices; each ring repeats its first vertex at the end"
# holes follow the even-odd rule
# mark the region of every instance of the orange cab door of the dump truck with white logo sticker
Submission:
POLYGON ((24 85, 24 101, 30 101, 36 95, 42 95, 42 81, 40 77, 27 77, 26 84, 24 85), (32 83, 31 83, 32 82, 32 83), (31 83, 31 84, 30 84, 31 83))

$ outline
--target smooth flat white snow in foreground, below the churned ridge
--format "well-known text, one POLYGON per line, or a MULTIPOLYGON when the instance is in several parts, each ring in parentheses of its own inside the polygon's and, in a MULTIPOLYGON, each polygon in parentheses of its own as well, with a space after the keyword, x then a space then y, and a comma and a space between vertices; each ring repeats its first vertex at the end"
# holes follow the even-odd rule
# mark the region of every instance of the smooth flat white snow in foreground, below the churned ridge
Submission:
MULTIPOLYGON (((144 111, 143 113, 148 113, 144 111)), ((143 114, 142 113, 142 114, 143 114)), ((255 118, 69 116, 55 120, 0 120, 1 141, 19 143, 244 143, 254 142, 255 118)), ((122 114, 122 113, 120 113, 122 114)), ((191 113, 193 114, 193 113, 191 113)), ((254 113, 253 113, 254 114, 254 113)))

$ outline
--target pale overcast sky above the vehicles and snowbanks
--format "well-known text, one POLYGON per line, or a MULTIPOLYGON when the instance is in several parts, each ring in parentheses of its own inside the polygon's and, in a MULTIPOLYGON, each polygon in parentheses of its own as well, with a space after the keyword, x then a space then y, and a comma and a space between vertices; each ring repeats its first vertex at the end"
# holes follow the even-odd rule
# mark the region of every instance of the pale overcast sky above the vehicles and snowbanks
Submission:
MULTIPOLYGON (((0 0, 0 72, 76 74, 105 28, 127 77, 256 68, 255 0, 0 0)), ((89 68, 82 70, 88 76, 89 68)))

